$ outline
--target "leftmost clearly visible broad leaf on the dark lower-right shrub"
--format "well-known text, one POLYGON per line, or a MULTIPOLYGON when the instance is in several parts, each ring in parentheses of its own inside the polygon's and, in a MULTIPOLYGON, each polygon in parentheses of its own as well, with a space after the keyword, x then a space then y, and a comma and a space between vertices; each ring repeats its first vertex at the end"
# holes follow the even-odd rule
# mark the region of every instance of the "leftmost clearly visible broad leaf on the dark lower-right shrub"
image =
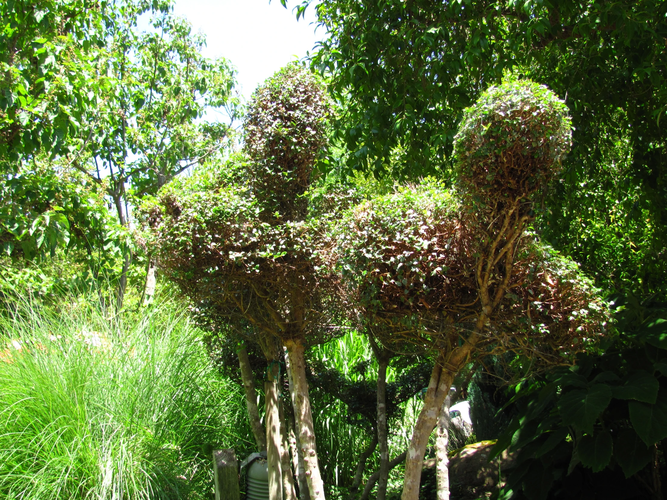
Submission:
POLYGON ((594 384, 590 389, 565 393, 558 402, 558 410, 566 425, 593 433, 593 424, 612 399, 612 389, 606 384, 594 384))

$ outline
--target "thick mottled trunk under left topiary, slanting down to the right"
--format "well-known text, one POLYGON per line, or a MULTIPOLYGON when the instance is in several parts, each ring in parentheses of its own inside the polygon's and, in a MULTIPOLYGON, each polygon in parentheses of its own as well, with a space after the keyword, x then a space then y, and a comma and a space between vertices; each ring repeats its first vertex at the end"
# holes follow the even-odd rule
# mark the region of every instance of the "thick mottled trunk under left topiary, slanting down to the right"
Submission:
POLYGON ((289 369, 293 386, 293 403, 295 421, 299 423, 299 445, 303 452, 303 465, 308 483, 311 500, 324 500, 324 483, 319 473, 317 450, 315 449, 315 431, 313 416, 310 411, 308 397, 308 383, 305 379, 305 359, 303 359, 303 344, 299 341, 288 340, 289 369))

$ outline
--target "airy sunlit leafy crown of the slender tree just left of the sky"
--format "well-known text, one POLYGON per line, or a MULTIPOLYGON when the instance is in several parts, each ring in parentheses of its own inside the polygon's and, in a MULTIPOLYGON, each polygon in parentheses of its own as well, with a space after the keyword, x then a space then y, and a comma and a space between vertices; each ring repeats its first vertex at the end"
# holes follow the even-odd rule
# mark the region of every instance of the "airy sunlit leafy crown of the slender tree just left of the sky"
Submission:
POLYGON ((141 5, 126 7, 99 55, 111 81, 75 141, 73 164, 97 183, 99 169, 109 171, 111 197, 123 194, 121 185, 128 183, 129 194, 141 198, 215 155, 230 129, 204 121, 205 111, 226 109, 233 120, 238 99, 233 67, 203 57, 205 39, 185 19, 167 6, 153 11, 154 31, 139 32, 141 5))

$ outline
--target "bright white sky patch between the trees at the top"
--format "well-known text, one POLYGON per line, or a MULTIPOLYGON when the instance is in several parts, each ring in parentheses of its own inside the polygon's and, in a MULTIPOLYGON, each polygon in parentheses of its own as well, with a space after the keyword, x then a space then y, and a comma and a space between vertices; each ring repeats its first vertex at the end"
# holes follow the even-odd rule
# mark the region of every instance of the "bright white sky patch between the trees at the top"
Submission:
POLYGON ((304 57, 325 36, 323 28, 315 33, 313 6, 297 22, 295 5, 296 0, 288 1, 287 9, 279 0, 270 5, 269 0, 175 0, 174 13, 206 35, 206 57, 225 57, 237 68, 247 100, 259 83, 304 57))

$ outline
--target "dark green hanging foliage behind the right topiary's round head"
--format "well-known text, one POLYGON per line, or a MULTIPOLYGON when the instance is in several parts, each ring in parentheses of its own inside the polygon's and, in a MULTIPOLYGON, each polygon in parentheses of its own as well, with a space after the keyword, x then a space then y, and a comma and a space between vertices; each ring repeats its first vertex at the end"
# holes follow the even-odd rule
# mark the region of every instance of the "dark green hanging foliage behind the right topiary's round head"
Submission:
POLYGON ((530 78, 573 125, 536 229, 599 287, 665 295, 664 3, 305 0, 297 17, 311 4, 342 175, 450 179, 464 109, 508 75, 530 78))

